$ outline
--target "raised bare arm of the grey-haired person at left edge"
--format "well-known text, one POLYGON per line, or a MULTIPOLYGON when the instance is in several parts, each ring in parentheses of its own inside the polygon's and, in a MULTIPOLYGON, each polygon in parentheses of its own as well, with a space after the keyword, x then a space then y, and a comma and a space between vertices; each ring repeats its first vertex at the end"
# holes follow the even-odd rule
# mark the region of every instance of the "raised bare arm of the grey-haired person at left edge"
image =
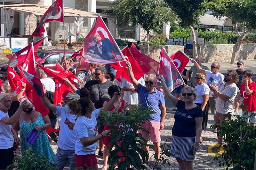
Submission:
POLYGON ((28 105, 27 100, 24 100, 20 107, 17 109, 17 111, 14 113, 14 115, 12 115, 12 117, 4 117, 1 120, 1 123, 5 124, 5 125, 13 125, 19 118, 20 118, 20 114, 22 112, 23 109, 25 109, 28 105))

